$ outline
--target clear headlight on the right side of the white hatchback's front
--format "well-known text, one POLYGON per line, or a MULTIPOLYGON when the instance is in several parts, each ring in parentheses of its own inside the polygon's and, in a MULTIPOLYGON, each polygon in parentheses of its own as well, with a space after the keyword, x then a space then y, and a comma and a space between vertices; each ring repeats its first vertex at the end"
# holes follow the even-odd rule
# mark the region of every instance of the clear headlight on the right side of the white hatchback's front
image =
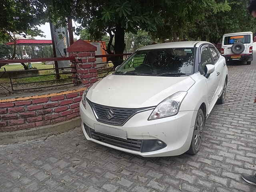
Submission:
POLYGON ((160 102, 150 114, 148 120, 160 119, 178 114, 180 104, 186 94, 186 91, 180 91, 160 102))

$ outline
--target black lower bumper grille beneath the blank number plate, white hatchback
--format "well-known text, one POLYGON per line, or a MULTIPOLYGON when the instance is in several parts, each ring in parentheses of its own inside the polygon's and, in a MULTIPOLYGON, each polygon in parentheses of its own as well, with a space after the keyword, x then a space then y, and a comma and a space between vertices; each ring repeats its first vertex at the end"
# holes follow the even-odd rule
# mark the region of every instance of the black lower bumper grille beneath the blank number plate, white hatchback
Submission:
POLYGON ((117 147, 133 150, 133 151, 141 151, 142 140, 139 139, 122 139, 115 136, 110 136, 107 134, 95 132, 93 129, 90 129, 91 138, 98 140, 100 142, 104 142, 110 145, 114 145, 117 147))

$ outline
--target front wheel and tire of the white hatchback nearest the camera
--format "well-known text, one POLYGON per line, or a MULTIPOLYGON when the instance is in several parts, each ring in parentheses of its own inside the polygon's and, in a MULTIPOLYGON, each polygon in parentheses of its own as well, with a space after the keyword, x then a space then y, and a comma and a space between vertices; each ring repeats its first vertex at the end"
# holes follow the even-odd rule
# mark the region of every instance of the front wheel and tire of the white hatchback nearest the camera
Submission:
POLYGON ((192 141, 190 144, 190 148, 187 151, 190 155, 195 155, 201 148, 202 144, 202 132, 204 130, 204 112, 200 108, 196 115, 196 122, 194 126, 194 132, 192 136, 192 141))

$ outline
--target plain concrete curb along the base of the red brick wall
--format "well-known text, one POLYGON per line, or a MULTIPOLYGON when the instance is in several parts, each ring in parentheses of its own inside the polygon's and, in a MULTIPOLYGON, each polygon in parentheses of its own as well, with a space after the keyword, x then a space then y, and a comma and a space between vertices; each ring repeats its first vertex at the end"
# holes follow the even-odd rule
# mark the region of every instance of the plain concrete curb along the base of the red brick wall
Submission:
POLYGON ((10 144, 20 141, 32 140, 42 136, 65 132, 81 126, 81 118, 77 117, 72 120, 60 122, 53 125, 32 128, 29 130, 18 130, 13 132, 0 133, 0 144, 10 144))

